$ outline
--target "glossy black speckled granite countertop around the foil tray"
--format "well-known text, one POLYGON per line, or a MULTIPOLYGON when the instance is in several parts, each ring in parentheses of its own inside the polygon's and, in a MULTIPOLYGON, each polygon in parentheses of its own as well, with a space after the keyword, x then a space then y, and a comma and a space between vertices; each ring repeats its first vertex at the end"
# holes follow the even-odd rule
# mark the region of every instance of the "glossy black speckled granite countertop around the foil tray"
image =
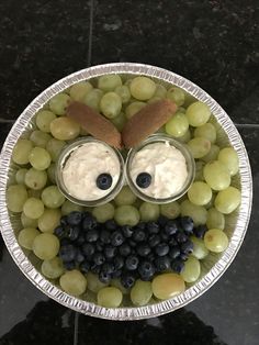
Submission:
MULTIPOLYGON (((225 108, 259 187, 258 1, 1 0, 0 14, 0 144, 29 102, 59 78, 90 65, 140 62, 191 79, 225 108)), ((245 242, 210 291, 177 312, 127 324, 48 300, 0 240, 0 345, 259 344, 257 205, 255 193, 245 242)))

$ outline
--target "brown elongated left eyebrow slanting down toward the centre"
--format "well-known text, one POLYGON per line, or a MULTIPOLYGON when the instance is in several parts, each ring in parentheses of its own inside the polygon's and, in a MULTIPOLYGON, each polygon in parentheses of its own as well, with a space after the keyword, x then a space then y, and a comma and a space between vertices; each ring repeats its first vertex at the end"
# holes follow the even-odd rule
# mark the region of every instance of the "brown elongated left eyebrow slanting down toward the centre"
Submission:
POLYGON ((92 136, 113 147, 122 148, 122 135, 114 124, 87 104, 71 102, 67 107, 66 113, 92 136))

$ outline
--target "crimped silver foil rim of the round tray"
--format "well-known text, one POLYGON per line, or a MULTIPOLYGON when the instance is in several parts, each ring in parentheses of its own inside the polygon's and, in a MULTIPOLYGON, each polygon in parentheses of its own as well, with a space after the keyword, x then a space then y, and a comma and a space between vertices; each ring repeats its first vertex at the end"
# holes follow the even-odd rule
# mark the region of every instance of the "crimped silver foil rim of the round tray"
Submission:
POLYGON ((204 90, 199 88, 188 79, 171 73, 169 70, 154 67, 149 65, 135 64, 135 63, 115 63, 100 66, 93 66, 71 74, 59 81, 52 85, 38 97, 36 97, 29 107, 22 112, 13 127, 11 129, 5 143, 2 147, 0 155, 0 230, 5 242, 5 245, 22 272, 41 291, 54 299, 55 301, 81 312, 87 315, 110 319, 110 320, 139 320, 153 316, 159 316, 165 313, 171 312, 181 308, 189 302, 193 301, 207 289, 210 289, 217 279, 224 274, 227 267, 235 258, 248 226, 252 203, 252 178, 249 165, 249 159, 245 145, 237 132, 234 123, 228 118, 226 112, 221 105, 207 94, 204 90), (241 203, 238 212, 227 218, 227 235, 229 245, 222 255, 210 255, 202 266, 202 278, 192 287, 172 298, 170 300, 157 302, 155 304, 139 307, 139 308, 116 308, 106 309, 99 307, 94 303, 87 302, 79 298, 71 297, 61 291, 58 287, 49 282, 41 272, 35 268, 31 260, 26 257, 23 249, 20 247, 15 236, 15 224, 18 220, 15 216, 10 215, 7 202, 5 190, 9 178, 9 172, 12 170, 11 155, 12 149, 18 138, 32 126, 31 120, 34 114, 56 93, 67 89, 71 85, 93 77, 99 77, 105 74, 132 74, 132 75, 146 75, 158 79, 161 84, 173 84, 181 87, 200 101, 206 103, 212 113, 217 120, 218 135, 222 135, 223 141, 229 142, 236 149, 239 157, 239 179, 234 179, 234 185, 241 189, 241 203), (221 129, 223 131, 221 131, 221 129))

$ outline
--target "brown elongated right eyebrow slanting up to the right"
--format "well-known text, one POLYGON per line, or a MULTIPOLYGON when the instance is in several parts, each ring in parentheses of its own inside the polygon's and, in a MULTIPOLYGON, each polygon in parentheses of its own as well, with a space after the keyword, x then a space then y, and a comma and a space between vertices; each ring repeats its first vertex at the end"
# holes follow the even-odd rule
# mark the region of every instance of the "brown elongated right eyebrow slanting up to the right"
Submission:
POLYGON ((177 111, 170 100, 159 100, 142 108, 125 124, 122 141, 125 147, 134 147, 158 131, 177 111))

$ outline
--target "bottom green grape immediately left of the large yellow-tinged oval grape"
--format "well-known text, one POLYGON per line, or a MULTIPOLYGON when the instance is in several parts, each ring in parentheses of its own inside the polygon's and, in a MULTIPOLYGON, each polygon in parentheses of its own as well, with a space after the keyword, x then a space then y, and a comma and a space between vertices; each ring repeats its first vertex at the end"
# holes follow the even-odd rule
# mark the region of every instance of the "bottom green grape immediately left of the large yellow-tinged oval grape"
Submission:
POLYGON ((131 290, 131 300, 134 305, 146 305, 153 297, 150 281, 143 281, 138 279, 131 290))

